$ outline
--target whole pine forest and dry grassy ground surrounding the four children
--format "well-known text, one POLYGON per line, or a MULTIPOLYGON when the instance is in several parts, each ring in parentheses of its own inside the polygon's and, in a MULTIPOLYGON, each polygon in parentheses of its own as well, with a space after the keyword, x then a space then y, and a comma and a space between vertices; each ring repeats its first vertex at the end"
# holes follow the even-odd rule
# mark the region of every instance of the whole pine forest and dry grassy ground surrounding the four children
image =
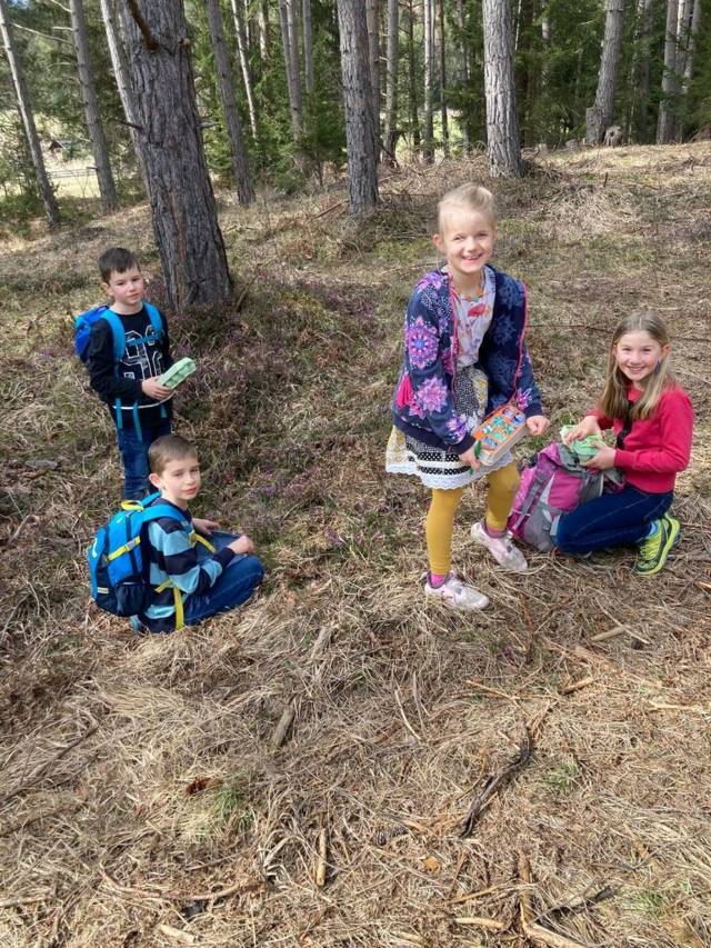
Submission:
POLYGON ((708 3, 0 0, 0 942, 711 945, 708 3), (652 585, 625 552, 502 575, 472 491, 454 550, 491 609, 414 595, 427 498, 384 476, 388 403, 467 180, 529 287, 553 432, 621 315, 670 325, 698 422, 652 585), (199 512, 269 568, 170 637, 88 601, 121 478, 71 326, 116 243, 199 366, 176 422, 199 512))

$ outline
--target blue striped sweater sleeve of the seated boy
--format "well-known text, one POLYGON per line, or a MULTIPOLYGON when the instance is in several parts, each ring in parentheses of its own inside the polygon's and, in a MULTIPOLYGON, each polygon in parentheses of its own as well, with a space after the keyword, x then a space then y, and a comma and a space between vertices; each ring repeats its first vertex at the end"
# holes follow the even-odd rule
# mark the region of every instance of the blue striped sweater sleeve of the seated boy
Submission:
POLYGON ((151 580, 158 579, 153 576, 153 567, 157 566, 181 592, 189 596, 207 592, 234 557, 234 552, 226 547, 213 556, 199 559, 190 535, 170 518, 161 517, 149 523, 148 540, 152 547, 151 580))

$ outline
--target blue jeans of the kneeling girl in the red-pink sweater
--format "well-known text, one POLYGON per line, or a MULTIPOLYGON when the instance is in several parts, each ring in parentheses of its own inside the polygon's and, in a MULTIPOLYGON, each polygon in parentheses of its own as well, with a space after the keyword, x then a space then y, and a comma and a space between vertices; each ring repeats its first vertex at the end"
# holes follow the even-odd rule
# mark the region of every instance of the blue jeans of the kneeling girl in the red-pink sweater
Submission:
POLYGON ((585 553, 604 547, 639 543, 671 507, 674 495, 648 493, 628 486, 582 503, 558 521, 555 546, 567 553, 585 553))

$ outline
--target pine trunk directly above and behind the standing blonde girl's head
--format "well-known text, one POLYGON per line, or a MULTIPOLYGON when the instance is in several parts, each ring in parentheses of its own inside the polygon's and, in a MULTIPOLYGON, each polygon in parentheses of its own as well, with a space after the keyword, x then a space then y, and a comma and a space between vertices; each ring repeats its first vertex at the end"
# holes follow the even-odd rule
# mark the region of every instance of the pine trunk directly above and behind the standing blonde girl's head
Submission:
POLYGON ((492 178, 521 178, 509 0, 483 0, 487 143, 492 178))

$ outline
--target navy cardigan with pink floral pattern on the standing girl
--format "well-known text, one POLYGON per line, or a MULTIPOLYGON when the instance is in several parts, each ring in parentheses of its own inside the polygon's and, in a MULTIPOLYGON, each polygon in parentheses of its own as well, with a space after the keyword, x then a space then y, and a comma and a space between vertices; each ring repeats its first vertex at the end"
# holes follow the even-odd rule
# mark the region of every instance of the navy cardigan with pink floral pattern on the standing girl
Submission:
MULTIPOLYGON (((489 379, 487 415, 513 397, 527 418, 542 415, 541 393, 523 343, 525 287, 499 270, 494 270, 494 277, 493 316, 477 362, 489 379)), ((439 269, 422 277, 408 303, 404 359, 392 399, 392 416, 405 435, 433 447, 452 447, 461 455, 473 445, 473 438, 464 416, 454 410, 455 365, 451 281, 439 269)))

